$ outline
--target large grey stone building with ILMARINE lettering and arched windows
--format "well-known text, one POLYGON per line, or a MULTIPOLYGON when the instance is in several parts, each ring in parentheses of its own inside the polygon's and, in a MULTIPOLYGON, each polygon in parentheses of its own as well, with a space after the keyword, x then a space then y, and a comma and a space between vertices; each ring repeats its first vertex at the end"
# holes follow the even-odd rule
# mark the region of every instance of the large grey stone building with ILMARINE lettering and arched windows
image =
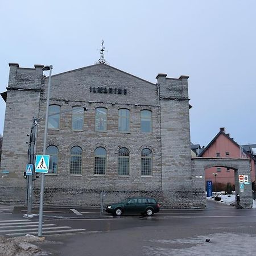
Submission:
MULTIPOLYGON (((1 93, 0 201, 24 203, 27 134, 37 117, 36 154, 43 154, 49 77, 43 65, 9 65, 7 92, 1 93)), ((160 73, 156 80, 106 64, 51 77, 45 204, 99 205, 105 190, 106 203, 147 195, 166 207, 205 207, 204 174, 192 174, 188 76, 160 73)), ((35 203, 39 192, 40 178, 34 181, 35 203)))

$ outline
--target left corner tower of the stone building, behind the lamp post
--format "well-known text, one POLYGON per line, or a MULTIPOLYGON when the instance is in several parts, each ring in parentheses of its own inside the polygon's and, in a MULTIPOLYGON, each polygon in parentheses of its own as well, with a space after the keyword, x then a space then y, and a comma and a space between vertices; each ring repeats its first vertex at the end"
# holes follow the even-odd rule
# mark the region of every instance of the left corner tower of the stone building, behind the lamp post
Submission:
MULTIPOLYGON (((1 171, 6 173, 0 179, 0 200, 8 200, 15 191, 16 201, 24 200, 20 189, 26 186, 22 179, 27 164, 27 134, 30 134, 32 117, 38 116, 43 65, 35 68, 20 68, 9 63, 5 126, 3 130, 1 171)), ((23 190, 22 190, 23 191, 23 190)))

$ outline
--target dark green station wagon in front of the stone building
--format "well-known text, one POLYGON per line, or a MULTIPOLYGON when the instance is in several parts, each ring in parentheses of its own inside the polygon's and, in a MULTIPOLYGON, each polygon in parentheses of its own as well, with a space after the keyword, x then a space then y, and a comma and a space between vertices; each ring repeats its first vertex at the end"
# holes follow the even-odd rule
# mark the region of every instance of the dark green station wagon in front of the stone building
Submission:
POLYGON ((152 216, 159 212, 159 204, 154 198, 130 197, 119 203, 106 205, 105 210, 115 216, 121 216, 123 213, 141 213, 152 216))

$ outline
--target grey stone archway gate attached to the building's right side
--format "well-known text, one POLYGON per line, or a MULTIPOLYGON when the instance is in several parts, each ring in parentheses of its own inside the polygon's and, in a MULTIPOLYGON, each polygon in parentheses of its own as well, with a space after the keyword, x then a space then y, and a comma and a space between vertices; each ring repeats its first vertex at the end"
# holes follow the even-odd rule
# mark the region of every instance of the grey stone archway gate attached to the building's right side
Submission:
POLYGON ((210 167, 225 167, 234 170, 236 193, 240 195, 243 208, 252 207, 250 159, 247 158, 191 158, 193 207, 206 208, 205 199, 205 169, 210 167), (249 183, 244 184, 240 191, 239 175, 248 175, 249 183))

